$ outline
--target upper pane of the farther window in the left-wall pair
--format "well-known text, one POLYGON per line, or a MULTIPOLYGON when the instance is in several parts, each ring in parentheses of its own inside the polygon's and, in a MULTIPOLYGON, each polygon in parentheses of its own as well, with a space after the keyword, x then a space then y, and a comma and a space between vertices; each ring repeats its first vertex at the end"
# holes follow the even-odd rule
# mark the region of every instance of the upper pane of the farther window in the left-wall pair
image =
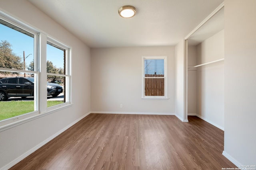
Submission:
POLYGON ((47 72, 65 74, 64 53, 66 50, 47 42, 47 72))

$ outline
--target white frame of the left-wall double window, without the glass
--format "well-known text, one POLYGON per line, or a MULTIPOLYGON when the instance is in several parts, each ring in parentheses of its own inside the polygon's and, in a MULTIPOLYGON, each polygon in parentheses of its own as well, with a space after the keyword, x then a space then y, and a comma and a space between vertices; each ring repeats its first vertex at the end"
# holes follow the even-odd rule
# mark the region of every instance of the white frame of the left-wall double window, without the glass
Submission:
MULTIPOLYGON (((18 70, 18 69, 9 69, 9 68, 0 68, 0 71, 8 72, 24 72, 27 74, 33 73, 35 75, 34 80, 34 109, 30 113, 25 113, 16 117, 10 117, 0 121, 0 132, 6 129, 10 129, 22 123, 26 123, 33 119, 54 113, 66 107, 72 106, 71 102, 71 47, 68 47, 64 43, 60 43, 45 33, 34 29, 33 27, 22 23, 21 21, 8 16, 7 14, 0 11, 0 19, 4 20, 20 29, 23 29, 29 33, 34 34, 34 71, 30 70, 18 70), (47 94, 45 93, 46 87, 43 85, 46 84, 46 43, 50 41, 63 49, 66 50, 66 74, 57 74, 57 76, 66 77, 66 102, 56 106, 47 108, 47 94), (45 62, 44 62, 45 61, 45 62)), ((48 73, 47 73, 48 74, 48 73)), ((47 77, 47 76, 46 76, 47 77)))

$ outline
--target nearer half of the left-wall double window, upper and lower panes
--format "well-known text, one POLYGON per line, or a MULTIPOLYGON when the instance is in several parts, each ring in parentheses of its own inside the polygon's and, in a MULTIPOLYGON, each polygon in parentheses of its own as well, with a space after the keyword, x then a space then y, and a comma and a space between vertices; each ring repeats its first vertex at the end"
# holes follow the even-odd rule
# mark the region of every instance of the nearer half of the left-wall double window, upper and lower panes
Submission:
MULTIPOLYGON (((37 112, 34 65, 37 33, 22 25, 0 20, 0 121, 37 112)), ((13 120, 10 120, 13 121, 13 120)))

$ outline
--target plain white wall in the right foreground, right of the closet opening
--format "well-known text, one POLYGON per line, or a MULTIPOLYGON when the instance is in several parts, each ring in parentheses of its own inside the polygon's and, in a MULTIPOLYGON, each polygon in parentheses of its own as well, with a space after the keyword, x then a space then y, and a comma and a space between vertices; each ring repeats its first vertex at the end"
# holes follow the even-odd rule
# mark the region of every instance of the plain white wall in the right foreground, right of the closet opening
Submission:
POLYGON ((225 0, 223 154, 256 165, 256 1, 225 0))

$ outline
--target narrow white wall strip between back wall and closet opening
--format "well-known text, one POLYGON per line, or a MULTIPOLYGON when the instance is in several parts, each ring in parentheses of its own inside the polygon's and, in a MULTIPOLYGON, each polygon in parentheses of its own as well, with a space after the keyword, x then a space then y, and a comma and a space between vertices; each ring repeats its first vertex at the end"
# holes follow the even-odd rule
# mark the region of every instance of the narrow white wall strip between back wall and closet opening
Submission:
POLYGON ((187 121, 184 114, 184 40, 175 46, 175 114, 181 121, 187 121))

